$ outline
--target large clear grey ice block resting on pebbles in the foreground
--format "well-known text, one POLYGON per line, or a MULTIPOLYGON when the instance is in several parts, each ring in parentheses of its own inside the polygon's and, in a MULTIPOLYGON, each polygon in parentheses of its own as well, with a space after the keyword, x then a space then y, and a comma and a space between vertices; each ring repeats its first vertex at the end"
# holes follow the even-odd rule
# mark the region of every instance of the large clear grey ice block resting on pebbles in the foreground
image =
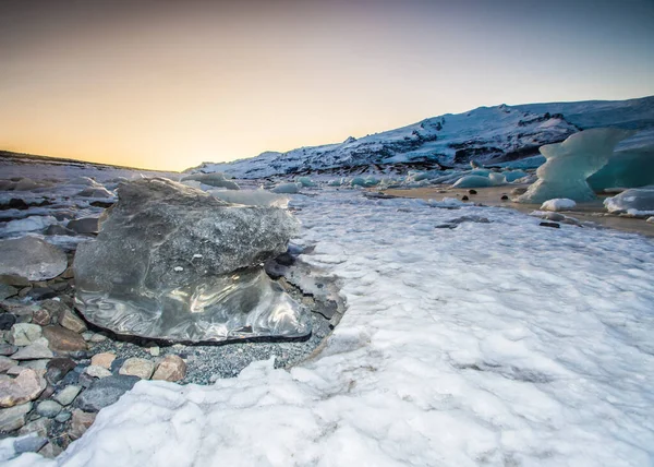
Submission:
POLYGON ((75 300, 88 321, 189 342, 310 333, 303 309, 261 267, 298 230, 288 212, 229 204, 167 179, 118 190, 97 239, 75 254, 75 300))

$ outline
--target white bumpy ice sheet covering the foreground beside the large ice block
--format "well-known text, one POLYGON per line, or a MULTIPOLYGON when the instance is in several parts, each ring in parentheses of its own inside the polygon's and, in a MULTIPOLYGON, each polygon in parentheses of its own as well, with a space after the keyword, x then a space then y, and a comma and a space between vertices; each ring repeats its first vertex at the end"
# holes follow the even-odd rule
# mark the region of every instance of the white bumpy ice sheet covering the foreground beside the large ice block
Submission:
POLYGON ((322 355, 213 386, 140 382, 59 464, 652 462, 652 240, 474 206, 459 213, 489 224, 435 229, 455 213, 359 193, 292 204, 317 244, 302 258, 349 302, 322 355))

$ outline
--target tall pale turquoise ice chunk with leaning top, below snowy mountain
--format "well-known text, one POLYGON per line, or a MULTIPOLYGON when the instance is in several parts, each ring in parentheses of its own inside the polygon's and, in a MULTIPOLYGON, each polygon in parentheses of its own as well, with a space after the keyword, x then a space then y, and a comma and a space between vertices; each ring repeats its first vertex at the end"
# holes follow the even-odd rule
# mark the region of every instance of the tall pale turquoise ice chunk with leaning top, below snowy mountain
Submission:
POLYGON ((586 179, 608 163, 616 144, 632 134, 630 130, 597 128, 574 133, 562 143, 541 146, 546 161, 536 170, 538 180, 516 201, 543 203, 555 197, 594 200, 595 193, 586 179))

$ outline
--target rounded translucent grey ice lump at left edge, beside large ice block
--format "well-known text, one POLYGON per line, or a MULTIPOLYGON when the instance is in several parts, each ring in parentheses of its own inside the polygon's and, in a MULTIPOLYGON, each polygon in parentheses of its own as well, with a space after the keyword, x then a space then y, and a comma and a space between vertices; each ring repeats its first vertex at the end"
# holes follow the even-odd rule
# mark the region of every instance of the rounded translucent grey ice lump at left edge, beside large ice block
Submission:
POLYGON ((66 266, 63 251, 36 237, 0 240, 0 274, 43 280, 57 277, 66 266))

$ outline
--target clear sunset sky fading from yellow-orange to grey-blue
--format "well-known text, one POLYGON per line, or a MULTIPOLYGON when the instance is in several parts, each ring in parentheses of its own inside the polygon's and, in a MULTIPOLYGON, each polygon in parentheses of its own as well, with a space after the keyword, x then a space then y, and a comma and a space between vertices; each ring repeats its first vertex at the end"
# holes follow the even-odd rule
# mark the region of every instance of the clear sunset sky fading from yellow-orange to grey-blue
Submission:
POLYGON ((183 170, 654 95, 654 0, 0 0, 0 149, 183 170))

